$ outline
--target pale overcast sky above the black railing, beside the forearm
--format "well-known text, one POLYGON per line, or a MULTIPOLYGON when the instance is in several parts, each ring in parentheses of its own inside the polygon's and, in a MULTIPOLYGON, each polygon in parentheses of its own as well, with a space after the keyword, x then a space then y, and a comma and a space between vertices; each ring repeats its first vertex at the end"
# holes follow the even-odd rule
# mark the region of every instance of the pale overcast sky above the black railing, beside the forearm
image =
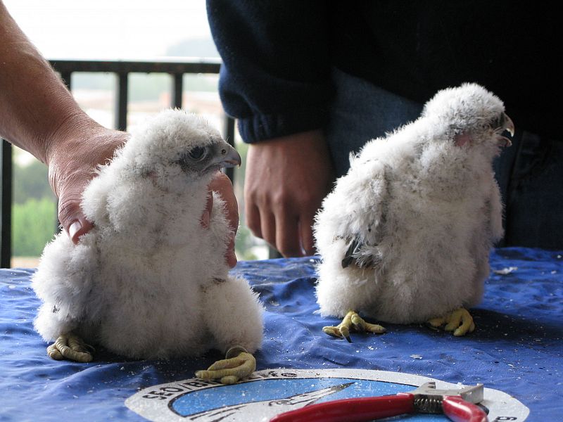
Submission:
POLYGON ((205 0, 4 0, 46 58, 146 59, 210 38, 205 0))

